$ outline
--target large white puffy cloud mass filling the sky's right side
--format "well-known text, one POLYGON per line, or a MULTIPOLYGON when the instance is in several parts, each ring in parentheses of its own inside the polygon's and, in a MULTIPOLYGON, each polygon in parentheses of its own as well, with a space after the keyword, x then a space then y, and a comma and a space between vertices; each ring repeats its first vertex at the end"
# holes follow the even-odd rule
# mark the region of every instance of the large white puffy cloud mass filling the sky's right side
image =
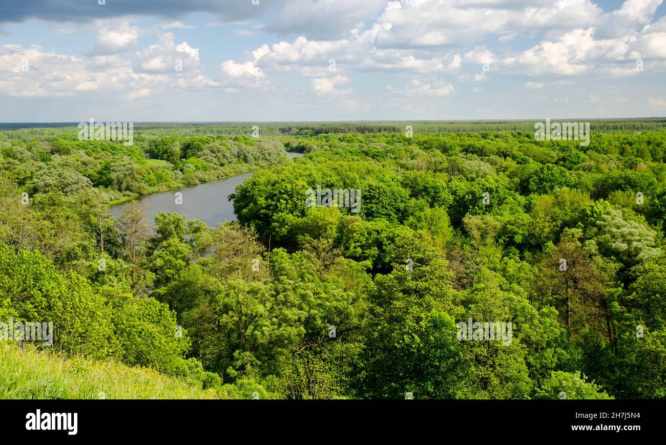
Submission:
MULTIPOLYGON (((499 68, 501 74, 576 76, 594 69, 599 75, 631 75, 631 67, 624 62, 632 57, 635 60, 641 53, 663 57, 666 45, 662 45, 661 28, 653 29, 652 33, 634 31, 619 37, 607 37, 601 29, 613 20, 621 19, 627 26, 649 22, 655 1, 627 0, 613 15, 590 0, 560 0, 554 4, 545 0, 451 0, 445 3, 403 0, 362 2, 360 9, 350 8, 349 1, 334 5, 335 2, 328 0, 298 0, 282 10, 280 17, 284 20, 280 19, 279 25, 269 23, 267 29, 293 31, 301 29, 298 23, 306 22, 317 24, 311 27, 319 27, 318 21, 308 17, 318 14, 331 18, 330 11, 338 7, 345 11, 353 9, 348 23, 362 16, 372 17, 378 7, 380 12, 374 23, 370 21, 367 26, 360 21, 348 29, 337 23, 336 29, 340 32, 322 31, 322 36, 332 35, 334 39, 307 37, 316 35, 316 31, 306 27, 302 28, 304 35, 291 43, 264 44, 251 52, 251 59, 229 63, 268 75, 295 73, 317 79, 326 75, 330 61, 345 75, 379 71, 415 75, 459 73, 464 65, 486 64, 499 68), (500 54, 488 45, 472 46, 463 56, 442 50, 468 46, 488 35, 507 41, 521 31, 544 31, 545 37, 529 49, 505 48, 500 54)), ((666 30, 666 25, 663 28, 666 30)), ((487 71, 462 74, 458 79, 485 81, 487 71)))

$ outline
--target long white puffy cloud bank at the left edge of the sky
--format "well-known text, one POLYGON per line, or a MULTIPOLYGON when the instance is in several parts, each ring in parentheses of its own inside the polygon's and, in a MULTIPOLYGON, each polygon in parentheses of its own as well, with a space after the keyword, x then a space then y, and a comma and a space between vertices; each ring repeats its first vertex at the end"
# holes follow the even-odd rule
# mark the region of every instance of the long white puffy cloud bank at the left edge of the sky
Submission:
POLYGON ((198 49, 184 42, 176 45, 170 33, 163 34, 156 45, 137 51, 136 57, 133 64, 126 54, 82 58, 43 51, 39 46, 4 45, 0 94, 65 97, 114 91, 119 99, 140 99, 157 91, 221 85, 200 73, 198 49), (174 70, 174 57, 184 59, 182 72, 174 70))

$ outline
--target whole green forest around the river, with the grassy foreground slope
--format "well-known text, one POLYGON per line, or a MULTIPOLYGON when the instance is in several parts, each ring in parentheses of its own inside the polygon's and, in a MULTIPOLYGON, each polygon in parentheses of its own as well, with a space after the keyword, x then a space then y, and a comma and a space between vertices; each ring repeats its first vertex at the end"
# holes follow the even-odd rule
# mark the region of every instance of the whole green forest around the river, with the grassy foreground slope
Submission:
POLYGON ((1 130, 0 321, 53 344, 0 330, 0 398, 666 398, 663 121, 405 125, 1 130), (248 171, 237 221, 133 200, 248 171))

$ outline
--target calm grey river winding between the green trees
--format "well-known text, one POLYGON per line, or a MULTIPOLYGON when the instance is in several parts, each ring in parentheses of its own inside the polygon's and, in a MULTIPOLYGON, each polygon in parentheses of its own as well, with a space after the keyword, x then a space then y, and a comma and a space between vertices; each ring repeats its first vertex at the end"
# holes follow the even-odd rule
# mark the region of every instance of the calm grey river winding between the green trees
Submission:
MULTIPOLYGON (((287 153, 290 158, 300 157, 303 153, 287 153)), ((229 201, 228 196, 234 193, 236 187, 245 179, 252 176, 252 172, 241 173, 203 183, 193 187, 184 187, 183 189, 171 190, 168 192, 153 193, 144 197, 137 198, 145 207, 145 215, 149 224, 155 224, 155 215, 163 213, 180 213, 186 219, 202 219, 209 226, 216 226, 219 222, 236 221, 234 215, 234 205, 229 201), (176 205, 175 193, 182 193, 182 204, 176 205)), ((119 219, 127 203, 111 206, 109 213, 115 219, 119 219)))

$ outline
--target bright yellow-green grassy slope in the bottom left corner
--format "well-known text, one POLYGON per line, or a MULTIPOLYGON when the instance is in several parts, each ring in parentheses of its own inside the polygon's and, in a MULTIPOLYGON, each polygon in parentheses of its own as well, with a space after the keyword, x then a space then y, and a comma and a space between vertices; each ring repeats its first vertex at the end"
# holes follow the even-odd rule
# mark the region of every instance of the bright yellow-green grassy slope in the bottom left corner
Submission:
POLYGON ((148 368, 63 358, 0 342, 1 399, 226 398, 148 368))

